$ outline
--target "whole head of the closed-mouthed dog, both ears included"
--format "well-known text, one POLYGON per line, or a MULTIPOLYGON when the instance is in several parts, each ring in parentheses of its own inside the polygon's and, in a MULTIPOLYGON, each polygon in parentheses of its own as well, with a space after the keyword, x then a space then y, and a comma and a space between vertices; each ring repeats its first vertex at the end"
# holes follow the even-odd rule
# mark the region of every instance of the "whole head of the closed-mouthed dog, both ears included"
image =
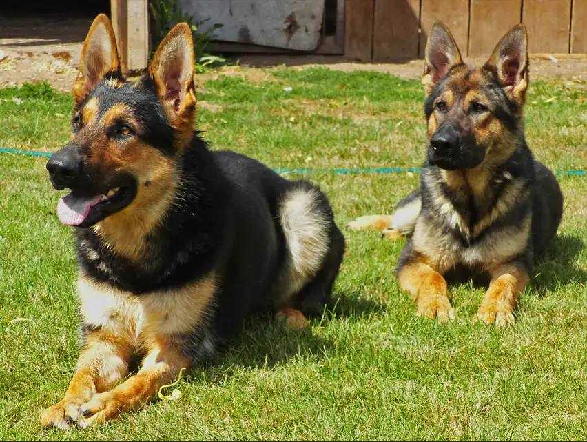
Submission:
POLYGON ((513 28, 484 66, 470 69, 449 30, 435 23, 426 44, 422 85, 431 165, 470 169, 489 156, 507 157, 528 86, 525 28, 513 28))

